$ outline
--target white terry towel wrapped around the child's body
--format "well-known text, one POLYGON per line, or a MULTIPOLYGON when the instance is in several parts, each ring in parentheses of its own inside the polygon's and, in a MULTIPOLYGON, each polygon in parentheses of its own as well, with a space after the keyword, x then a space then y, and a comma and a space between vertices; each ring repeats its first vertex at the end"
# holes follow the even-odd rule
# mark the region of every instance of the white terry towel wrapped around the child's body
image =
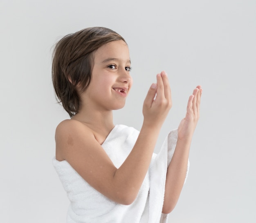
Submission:
MULTIPOLYGON (((102 144, 117 168, 129 155, 138 135, 139 131, 132 127, 116 125, 102 144)), ((137 198, 130 205, 108 199, 92 188, 67 161, 57 161, 54 157, 54 168, 70 200, 67 223, 167 223, 168 214, 162 214, 162 206, 167 166, 176 142, 177 130, 173 130, 160 152, 153 154, 137 198)))

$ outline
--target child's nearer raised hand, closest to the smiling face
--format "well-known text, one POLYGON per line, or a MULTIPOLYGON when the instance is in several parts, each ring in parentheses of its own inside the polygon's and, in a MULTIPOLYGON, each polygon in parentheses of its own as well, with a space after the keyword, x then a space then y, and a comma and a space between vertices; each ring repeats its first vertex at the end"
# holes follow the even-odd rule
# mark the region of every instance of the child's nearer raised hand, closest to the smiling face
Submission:
POLYGON ((157 84, 152 84, 143 105, 144 124, 161 127, 171 109, 171 89, 165 71, 157 74, 157 84))

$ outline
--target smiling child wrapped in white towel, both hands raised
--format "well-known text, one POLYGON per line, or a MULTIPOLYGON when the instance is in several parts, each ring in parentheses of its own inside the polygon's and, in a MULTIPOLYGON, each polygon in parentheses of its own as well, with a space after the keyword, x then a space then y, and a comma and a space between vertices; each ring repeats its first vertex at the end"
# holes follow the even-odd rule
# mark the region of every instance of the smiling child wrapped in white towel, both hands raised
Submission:
POLYGON ((189 148, 199 118, 201 86, 186 117, 153 153, 172 106, 164 71, 143 105, 141 131, 114 125, 132 86, 128 46, 103 27, 66 35, 55 46, 52 80, 71 119, 56 128, 54 168, 70 199, 69 223, 167 222, 186 178, 189 148))

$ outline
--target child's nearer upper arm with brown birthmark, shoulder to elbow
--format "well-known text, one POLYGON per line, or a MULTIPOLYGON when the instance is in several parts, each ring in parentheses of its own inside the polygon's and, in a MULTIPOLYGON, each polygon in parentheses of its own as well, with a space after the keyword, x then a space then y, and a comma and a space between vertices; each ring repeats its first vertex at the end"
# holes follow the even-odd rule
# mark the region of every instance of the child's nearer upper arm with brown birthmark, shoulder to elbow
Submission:
POLYGON ((113 187, 117 168, 88 126, 76 120, 64 120, 56 128, 55 141, 58 161, 66 160, 93 188, 119 201, 113 187))

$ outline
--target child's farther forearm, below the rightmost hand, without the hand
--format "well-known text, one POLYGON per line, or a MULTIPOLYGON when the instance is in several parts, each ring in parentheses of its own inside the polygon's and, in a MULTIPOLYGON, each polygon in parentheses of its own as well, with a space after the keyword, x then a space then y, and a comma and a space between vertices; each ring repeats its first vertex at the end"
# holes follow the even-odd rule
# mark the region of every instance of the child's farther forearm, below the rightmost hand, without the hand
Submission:
POLYGON ((177 140, 173 158, 167 169, 162 212, 170 213, 179 197, 186 178, 191 141, 177 140))

